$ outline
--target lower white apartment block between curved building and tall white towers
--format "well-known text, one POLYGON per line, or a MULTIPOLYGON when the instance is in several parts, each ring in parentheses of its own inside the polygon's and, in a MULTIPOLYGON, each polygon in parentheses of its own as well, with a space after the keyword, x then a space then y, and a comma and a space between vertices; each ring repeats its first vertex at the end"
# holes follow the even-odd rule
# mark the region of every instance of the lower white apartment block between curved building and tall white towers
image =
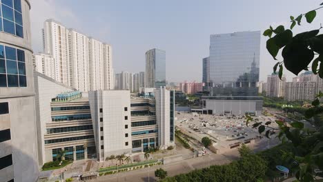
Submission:
POLYGON ((50 54, 42 52, 32 54, 32 62, 37 72, 55 79, 55 59, 50 54))

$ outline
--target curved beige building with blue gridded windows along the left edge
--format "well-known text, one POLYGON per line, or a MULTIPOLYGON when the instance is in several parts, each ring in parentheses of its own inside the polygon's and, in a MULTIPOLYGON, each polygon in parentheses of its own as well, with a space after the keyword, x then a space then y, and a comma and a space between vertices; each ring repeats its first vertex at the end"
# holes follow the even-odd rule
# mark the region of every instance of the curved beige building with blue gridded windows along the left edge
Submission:
POLYGON ((0 181, 37 181, 30 2, 1 1, 0 181))

